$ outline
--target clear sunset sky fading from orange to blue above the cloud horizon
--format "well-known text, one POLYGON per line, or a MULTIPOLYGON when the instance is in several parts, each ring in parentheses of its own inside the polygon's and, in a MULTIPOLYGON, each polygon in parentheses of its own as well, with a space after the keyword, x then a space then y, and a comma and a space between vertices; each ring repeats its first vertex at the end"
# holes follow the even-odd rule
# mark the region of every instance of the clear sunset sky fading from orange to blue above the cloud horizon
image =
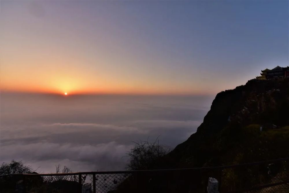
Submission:
POLYGON ((288 1, 1 1, 1 89, 215 94, 288 66, 288 1))

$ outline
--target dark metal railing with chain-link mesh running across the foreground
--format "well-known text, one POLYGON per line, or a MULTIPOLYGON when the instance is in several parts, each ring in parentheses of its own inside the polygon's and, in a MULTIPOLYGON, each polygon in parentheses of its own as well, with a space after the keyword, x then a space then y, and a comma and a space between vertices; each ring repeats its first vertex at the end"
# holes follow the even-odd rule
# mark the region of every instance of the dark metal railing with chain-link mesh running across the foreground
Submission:
POLYGON ((218 180, 219 192, 289 192, 289 158, 230 166, 11 174, 0 176, 0 192, 112 193, 207 192, 208 178, 218 180))

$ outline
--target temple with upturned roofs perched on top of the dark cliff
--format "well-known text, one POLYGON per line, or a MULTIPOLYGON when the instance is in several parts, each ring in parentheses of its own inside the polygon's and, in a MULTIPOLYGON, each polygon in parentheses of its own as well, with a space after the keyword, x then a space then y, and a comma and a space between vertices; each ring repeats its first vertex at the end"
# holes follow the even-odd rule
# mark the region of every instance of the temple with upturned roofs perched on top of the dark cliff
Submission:
POLYGON ((257 80, 277 80, 283 78, 289 78, 289 66, 280 67, 276 66, 272 70, 266 68, 261 70, 261 76, 256 76, 257 80))

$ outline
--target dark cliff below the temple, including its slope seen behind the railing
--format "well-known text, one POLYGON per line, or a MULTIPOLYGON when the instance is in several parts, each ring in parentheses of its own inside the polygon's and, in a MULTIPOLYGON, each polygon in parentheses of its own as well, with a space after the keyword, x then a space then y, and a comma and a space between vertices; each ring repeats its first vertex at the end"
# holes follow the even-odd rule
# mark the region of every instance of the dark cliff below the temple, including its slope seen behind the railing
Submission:
MULTIPOLYGON (((149 169, 225 166, 289 157, 288 141, 289 79, 250 80, 218 93, 197 132, 149 169)), ((288 180, 286 163, 272 165, 279 179, 288 180)), ((268 164, 220 170, 162 170, 139 172, 114 192, 204 192, 208 177, 222 182, 220 192, 249 190, 276 179, 268 173, 268 164)), ((275 187, 273 192, 288 192, 281 188, 275 187)))

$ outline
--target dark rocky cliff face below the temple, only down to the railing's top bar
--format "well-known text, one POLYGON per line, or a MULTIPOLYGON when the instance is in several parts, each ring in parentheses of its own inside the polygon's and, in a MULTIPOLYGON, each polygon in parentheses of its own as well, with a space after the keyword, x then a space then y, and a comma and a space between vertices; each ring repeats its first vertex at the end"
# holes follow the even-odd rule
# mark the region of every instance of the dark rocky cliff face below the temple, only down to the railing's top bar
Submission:
POLYGON ((197 132, 169 153, 163 166, 216 166, 287 157, 288 125, 289 79, 251 80, 218 93, 197 132))

